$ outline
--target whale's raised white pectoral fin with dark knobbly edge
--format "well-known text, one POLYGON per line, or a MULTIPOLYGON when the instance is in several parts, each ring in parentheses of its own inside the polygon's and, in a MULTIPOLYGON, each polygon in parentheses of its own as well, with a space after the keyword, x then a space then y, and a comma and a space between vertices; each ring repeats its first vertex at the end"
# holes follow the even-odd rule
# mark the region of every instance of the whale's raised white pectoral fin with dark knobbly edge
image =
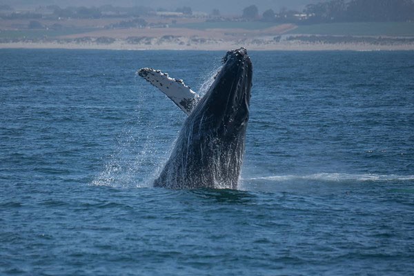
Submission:
POLYGON ((187 115, 190 114, 199 100, 199 95, 186 86, 182 79, 172 79, 168 77, 168 74, 152 68, 141 68, 138 75, 164 92, 187 115))

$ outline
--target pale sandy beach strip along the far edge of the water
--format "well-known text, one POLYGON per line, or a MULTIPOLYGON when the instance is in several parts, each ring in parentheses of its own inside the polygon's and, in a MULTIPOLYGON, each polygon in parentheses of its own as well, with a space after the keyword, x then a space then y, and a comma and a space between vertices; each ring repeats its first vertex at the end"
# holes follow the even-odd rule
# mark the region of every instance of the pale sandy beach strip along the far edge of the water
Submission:
POLYGON ((99 43, 94 39, 87 42, 39 41, 0 43, 0 48, 26 49, 95 49, 95 50, 229 50, 243 46, 248 50, 414 50, 414 43, 324 43, 300 40, 274 41, 273 39, 200 39, 178 37, 172 41, 149 39, 144 43, 130 43, 126 39, 115 39, 111 43, 99 43))

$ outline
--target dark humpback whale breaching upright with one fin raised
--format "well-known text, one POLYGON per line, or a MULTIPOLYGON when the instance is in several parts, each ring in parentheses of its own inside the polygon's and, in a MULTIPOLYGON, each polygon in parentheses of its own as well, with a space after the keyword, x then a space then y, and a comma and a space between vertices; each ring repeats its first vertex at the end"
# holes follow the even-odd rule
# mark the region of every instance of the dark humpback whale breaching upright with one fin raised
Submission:
POLYGON ((139 70, 188 114, 155 187, 238 188, 253 67, 244 48, 228 51, 223 63, 204 97, 159 70, 139 70))

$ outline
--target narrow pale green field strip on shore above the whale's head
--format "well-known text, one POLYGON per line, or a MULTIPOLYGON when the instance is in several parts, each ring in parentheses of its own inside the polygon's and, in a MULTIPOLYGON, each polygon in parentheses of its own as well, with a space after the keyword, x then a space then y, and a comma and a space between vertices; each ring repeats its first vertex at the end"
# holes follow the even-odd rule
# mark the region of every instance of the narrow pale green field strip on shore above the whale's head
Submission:
POLYGON ((262 30, 274 26, 278 26, 280 23, 272 22, 195 22, 195 23, 181 23, 175 24, 171 27, 174 28, 190 28, 196 30, 206 29, 244 29, 244 30, 262 30))

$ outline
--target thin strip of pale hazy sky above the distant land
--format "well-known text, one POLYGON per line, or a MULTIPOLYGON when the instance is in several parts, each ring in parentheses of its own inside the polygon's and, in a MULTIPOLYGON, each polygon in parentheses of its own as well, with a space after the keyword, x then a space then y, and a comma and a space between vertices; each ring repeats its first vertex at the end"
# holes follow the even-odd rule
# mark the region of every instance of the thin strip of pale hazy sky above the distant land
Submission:
POLYGON ((282 7, 302 10, 308 3, 317 3, 322 0, 0 0, 0 4, 17 6, 149 6, 151 8, 166 8, 175 10, 177 7, 189 6, 193 11, 211 12, 218 8, 221 14, 241 14, 246 6, 256 5, 259 12, 271 8, 278 12, 282 7))

